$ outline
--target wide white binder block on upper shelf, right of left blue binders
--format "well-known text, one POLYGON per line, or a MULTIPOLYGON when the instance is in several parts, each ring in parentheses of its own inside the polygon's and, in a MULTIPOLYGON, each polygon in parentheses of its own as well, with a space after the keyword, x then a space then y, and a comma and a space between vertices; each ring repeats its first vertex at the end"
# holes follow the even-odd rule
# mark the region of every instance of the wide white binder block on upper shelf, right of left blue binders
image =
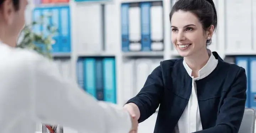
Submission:
POLYGON ((102 51, 101 5, 76 5, 75 38, 78 53, 98 53, 102 51), (86 12, 86 13, 85 13, 86 12))

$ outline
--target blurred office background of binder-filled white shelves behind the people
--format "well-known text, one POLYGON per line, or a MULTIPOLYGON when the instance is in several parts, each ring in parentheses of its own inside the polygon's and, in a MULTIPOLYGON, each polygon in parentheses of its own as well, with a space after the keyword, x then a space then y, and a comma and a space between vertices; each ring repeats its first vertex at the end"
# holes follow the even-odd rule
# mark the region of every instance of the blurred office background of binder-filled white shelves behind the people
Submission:
MULTIPOLYGON (((176 0, 30 0, 26 21, 51 13, 60 73, 98 100, 122 106, 160 61, 179 58, 169 12, 176 0)), ((256 0, 214 0, 218 27, 209 49, 246 69, 246 107, 256 108, 256 0)), ((43 32, 38 25, 35 32, 43 32)), ((139 125, 151 133, 157 112, 139 125)), ((38 127, 38 130, 41 130, 38 127)), ((76 133, 64 127, 64 133, 76 133)))

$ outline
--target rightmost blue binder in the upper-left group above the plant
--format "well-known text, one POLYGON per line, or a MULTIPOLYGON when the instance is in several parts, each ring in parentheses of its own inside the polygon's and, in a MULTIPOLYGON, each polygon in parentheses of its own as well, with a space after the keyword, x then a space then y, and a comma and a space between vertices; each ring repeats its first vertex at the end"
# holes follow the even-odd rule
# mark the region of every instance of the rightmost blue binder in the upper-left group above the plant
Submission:
POLYGON ((61 34, 61 42, 62 52, 70 52, 70 13, 69 6, 60 7, 60 34, 61 34))

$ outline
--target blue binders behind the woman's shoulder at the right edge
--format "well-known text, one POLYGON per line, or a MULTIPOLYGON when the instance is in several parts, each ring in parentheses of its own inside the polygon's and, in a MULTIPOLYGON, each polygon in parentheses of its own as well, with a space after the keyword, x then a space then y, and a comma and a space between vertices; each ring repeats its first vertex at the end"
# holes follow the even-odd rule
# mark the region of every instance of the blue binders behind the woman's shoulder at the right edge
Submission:
POLYGON ((247 76, 246 107, 256 109, 256 56, 238 56, 235 63, 245 68, 247 76))

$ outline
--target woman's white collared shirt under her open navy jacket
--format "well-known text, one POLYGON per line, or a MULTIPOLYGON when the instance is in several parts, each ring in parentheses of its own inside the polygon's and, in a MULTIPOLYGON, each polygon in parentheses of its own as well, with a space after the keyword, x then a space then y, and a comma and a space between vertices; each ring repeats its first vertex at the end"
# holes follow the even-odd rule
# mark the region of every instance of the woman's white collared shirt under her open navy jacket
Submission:
POLYGON ((188 104, 184 112, 180 117, 180 120, 178 121, 177 126, 175 127, 175 133, 192 133, 192 132, 202 130, 202 123, 201 123, 201 117, 199 112, 199 106, 198 106, 198 100, 197 100, 197 88, 196 88, 195 81, 207 77, 217 67, 218 60, 215 59, 215 57, 213 56, 210 50, 208 50, 208 54, 210 55, 210 58, 206 63, 206 65, 203 68, 201 68, 201 70, 199 70, 197 78, 194 78, 192 76, 191 68, 183 60, 183 65, 187 73, 191 76, 193 82, 192 82, 192 91, 191 91, 190 99, 188 101, 188 104))

